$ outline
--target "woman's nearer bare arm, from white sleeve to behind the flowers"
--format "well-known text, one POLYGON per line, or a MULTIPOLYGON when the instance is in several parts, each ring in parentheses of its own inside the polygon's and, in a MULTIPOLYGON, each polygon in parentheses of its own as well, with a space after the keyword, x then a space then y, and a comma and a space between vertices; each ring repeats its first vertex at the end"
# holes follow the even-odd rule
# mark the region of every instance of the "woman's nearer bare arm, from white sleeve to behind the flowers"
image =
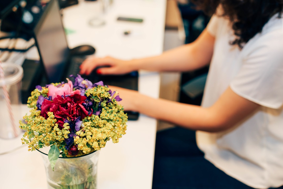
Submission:
POLYGON ((110 88, 119 92, 123 99, 121 104, 124 105, 125 110, 137 111, 192 130, 208 132, 226 130, 260 107, 259 104, 237 95, 230 87, 213 106, 208 108, 155 99, 119 87, 111 86, 110 88))

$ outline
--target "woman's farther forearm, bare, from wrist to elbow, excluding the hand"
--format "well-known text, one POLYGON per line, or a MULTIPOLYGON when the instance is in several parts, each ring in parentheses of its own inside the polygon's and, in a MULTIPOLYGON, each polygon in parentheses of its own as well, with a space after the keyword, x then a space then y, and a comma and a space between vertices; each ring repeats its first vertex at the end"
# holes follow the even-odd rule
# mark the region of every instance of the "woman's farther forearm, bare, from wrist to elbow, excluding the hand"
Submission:
POLYGON ((135 59, 136 70, 190 71, 209 64, 213 54, 214 37, 206 30, 193 43, 182 45, 159 56, 135 59))

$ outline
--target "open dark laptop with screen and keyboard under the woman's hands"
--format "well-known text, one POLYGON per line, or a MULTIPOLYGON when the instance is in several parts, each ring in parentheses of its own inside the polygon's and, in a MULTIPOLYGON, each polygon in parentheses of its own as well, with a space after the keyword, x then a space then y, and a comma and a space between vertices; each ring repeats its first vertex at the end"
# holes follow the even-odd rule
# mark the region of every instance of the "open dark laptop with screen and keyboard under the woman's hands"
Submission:
MULTIPOLYGON (((48 83, 65 81, 66 78, 71 80, 69 75, 79 74, 79 66, 86 57, 71 56, 57 0, 51 0, 46 5, 35 26, 34 38, 48 83)), ((138 90, 138 72, 125 75, 98 75, 94 71, 89 76, 82 77, 92 83, 103 81, 105 85, 138 90)), ((138 112, 126 113, 129 120, 138 119, 138 112)))

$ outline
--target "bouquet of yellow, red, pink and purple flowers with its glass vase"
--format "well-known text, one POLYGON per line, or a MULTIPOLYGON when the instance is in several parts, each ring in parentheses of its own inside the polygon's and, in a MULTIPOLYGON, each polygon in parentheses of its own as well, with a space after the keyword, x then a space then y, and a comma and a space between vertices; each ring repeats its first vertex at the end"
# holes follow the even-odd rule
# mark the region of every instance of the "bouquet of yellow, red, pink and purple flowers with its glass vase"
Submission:
POLYGON ((98 150, 110 139, 119 142, 128 117, 117 92, 102 81, 70 77, 74 82, 67 78, 67 83, 37 86, 31 93, 27 103, 32 109, 20 121, 26 130, 22 143, 42 152, 49 187, 96 188, 98 150))

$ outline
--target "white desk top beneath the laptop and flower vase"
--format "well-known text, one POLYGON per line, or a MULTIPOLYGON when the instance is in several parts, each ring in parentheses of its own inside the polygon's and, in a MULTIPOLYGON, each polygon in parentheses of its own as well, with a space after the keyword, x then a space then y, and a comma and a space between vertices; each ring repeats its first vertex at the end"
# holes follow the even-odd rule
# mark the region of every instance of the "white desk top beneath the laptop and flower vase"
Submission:
MULTIPOLYGON (((123 59, 162 53, 166 0, 114 0, 105 15, 106 25, 91 28, 87 20, 95 16, 96 3, 81 0, 79 5, 63 11, 65 28, 75 31, 67 36, 70 48, 90 44, 96 48, 97 56, 123 59), (117 16, 141 17, 144 22, 117 22, 117 16), (132 30, 132 34, 123 35, 125 30, 132 30)), ((158 73, 140 72, 140 93, 158 98, 159 85, 158 73)), ((141 115, 138 121, 128 122, 127 134, 119 143, 107 143, 98 160, 98 189, 151 188, 156 123, 155 119, 141 115), (113 155, 116 160, 110 164, 113 155)), ((21 146, 20 137, 0 139, 0 153, 17 146, 21 146)), ((0 155, 0 169, 0 188, 47 188, 42 158, 38 152, 28 152, 27 146, 0 155)))

